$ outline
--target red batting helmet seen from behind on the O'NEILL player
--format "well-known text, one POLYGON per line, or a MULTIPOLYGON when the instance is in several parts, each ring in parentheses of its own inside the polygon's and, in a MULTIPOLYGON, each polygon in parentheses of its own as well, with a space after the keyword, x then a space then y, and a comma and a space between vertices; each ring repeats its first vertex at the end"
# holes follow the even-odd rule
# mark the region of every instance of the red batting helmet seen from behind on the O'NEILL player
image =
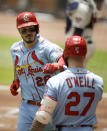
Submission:
POLYGON ((86 56, 86 42, 81 36, 71 36, 65 42, 64 59, 68 56, 86 56))

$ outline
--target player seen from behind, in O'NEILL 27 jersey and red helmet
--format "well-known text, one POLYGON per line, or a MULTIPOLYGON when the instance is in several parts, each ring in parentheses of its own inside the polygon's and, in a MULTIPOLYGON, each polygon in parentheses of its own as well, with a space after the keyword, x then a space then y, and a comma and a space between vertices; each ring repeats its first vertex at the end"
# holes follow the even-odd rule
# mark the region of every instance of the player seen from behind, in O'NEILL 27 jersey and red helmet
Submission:
POLYGON ((64 59, 68 69, 51 77, 30 131, 41 131, 53 121, 56 131, 93 131, 96 108, 102 98, 103 80, 84 68, 85 40, 71 36, 66 40, 64 59))

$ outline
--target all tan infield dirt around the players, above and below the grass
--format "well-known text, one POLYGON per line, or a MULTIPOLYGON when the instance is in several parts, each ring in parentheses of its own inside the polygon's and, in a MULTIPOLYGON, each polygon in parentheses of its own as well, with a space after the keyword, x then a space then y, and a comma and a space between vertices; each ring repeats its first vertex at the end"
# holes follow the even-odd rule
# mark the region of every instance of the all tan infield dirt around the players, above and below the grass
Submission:
MULTIPOLYGON (((0 35, 20 37, 16 30, 16 15, 0 12, 0 35)), ((40 34, 58 43, 65 41, 65 21, 40 20, 40 34)), ((95 25, 93 39, 97 49, 107 51, 107 23, 95 25)), ((5 89, 5 87, 3 87, 5 89)), ((13 97, 9 90, 0 89, 0 131, 16 131, 18 107, 20 104, 20 94, 13 97)), ((107 98, 103 98, 97 108, 98 125, 95 131, 107 131, 107 98)))

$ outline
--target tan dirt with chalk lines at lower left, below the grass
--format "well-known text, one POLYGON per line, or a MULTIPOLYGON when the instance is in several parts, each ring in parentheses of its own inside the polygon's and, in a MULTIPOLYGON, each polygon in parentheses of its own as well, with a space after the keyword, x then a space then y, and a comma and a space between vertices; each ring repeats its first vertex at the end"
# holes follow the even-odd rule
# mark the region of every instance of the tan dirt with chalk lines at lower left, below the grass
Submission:
POLYGON ((0 90, 0 131, 16 131, 20 97, 12 97, 7 90, 0 90))

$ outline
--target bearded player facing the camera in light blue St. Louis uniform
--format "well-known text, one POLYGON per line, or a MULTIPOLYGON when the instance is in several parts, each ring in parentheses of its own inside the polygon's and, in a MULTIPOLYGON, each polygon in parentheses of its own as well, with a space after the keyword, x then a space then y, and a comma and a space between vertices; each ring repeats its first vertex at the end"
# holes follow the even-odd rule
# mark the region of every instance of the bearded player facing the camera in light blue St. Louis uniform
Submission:
MULTIPOLYGON (((63 50, 39 35, 39 23, 31 12, 17 16, 17 29, 22 40, 12 45, 10 51, 14 64, 14 81, 10 86, 13 96, 21 88, 21 105, 17 131, 28 131, 40 106, 45 84, 51 75, 43 74, 46 63, 57 62, 63 50)), ((52 130, 52 128, 45 131, 52 130)))

